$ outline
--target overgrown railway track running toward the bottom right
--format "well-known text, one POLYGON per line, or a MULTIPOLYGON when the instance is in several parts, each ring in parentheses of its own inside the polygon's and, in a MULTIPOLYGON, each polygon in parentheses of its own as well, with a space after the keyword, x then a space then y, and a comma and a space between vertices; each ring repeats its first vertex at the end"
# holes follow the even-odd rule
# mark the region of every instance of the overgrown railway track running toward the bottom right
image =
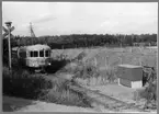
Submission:
POLYGON ((91 105, 93 107, 98 107, 99 111, 109 109, 115 112, 123 111, 123 110, 133 110, 136 112, 144 112, 143 109, 140 109, 138 105, 135 105, 134 103, 123 102, 110 95, 102 94, 96 90, 89 90, 81 86, 73 86, 71 83, 68 87, 69 89, 73 91, 84 94, 87 99, 89 99, 89 101, 91 102, 91 105))

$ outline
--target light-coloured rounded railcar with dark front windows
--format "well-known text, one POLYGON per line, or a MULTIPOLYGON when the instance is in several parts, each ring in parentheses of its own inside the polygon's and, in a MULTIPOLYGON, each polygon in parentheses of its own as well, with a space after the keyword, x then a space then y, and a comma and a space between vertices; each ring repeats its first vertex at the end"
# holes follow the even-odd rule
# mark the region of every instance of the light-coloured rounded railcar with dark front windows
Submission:
POLYGON ((23 66, 39 69, 50 66, 50 50, 47 45, 36 44, 18 48, 16 56, 23 66))

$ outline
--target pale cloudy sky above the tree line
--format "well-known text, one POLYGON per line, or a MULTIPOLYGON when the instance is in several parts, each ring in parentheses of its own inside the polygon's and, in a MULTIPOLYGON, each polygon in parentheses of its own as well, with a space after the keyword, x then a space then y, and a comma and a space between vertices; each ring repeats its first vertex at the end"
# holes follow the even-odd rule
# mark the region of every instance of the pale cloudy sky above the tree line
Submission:
POLYGON ((2 2, 14 35, 146 34, 158 31, 157 2, 2 2))

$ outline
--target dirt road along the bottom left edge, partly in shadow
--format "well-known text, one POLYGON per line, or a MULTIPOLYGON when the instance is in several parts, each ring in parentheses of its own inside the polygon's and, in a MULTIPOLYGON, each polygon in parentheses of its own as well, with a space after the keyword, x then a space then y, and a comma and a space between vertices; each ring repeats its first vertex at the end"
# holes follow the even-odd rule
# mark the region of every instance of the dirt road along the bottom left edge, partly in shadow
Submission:
POLYGON ((3 112, 96 112, 93 109, 59 105, 20 98, 3 96, 3 112))

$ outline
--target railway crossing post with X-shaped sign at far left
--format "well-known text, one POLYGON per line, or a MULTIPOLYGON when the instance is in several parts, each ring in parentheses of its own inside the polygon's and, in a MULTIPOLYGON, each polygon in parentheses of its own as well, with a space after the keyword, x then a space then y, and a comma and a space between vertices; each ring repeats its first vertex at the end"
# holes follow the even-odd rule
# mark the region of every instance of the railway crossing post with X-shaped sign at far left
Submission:
POLYGON ((5 32, 3 35, 7 36, 8 35, 8 45, 9 45, 9 69, 10 71, 12 70, 12 61, 11 61, 11 32, 14 30, 14 26, 11 27, 12 22, 5 22, 5 25, 8 27, 8 30, 5 27, 3 27, 3 31, 5 32))

